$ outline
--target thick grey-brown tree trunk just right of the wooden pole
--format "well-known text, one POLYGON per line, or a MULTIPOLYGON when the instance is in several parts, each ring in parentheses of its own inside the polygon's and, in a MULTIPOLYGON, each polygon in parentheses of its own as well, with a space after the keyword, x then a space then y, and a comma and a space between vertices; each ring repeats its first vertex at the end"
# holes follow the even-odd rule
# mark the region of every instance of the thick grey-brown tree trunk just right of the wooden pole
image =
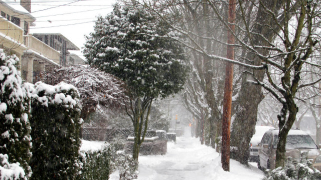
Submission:
MULTIPOLYGON (((278 11, 281 7, 281 1, 276 0, 264 0, 261 1, 264 5, 278 11)), ((253 32, 262 34, 266 39, 271 41, 274 38, 274 34, 270 33, 269 27, 275 26, 270 19, 262 5, 259 5, 257 16, 255 21, 256 23, 252 28, 253 32), (268 24, 267 26, 261 25, 261 22, 268 24)), ((254 35, 252 37, 252 42, 255 45, 267 45, 267 42, 262 38, 262 36, 254 35)), ((268 50, 263 49, 260 51, 262 55, 267 55, 268 50)), ((246 55, 247 59, 252 59, 254 65, 261 64, 261 60, 253 53, 248 52, 246 55)), ((264 77, 264 70, 251 70, 254 76, 262 81, 264 77)), ((236 114, 232 124, 232 133, 231 133, 231 146, 236 147, 236 151, 233 151, 232 158, 241 162, 242 164, 247 164, 249 157, 249 143, 255 131, 255 125, 257 121, 257 108, 258 104, 264 98, 262 94, 261 87, 254 84, 247 83, 247 75, 242 77, 242 86, 239 91, 239 96, 237 99, 237 105, 235 106, 236 114)))

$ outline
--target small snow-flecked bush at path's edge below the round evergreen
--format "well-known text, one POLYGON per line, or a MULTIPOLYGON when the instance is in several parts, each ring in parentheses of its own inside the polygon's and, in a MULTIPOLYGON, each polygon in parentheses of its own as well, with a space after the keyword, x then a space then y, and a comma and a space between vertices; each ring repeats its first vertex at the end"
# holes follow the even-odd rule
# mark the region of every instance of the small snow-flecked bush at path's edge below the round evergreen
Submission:
POLYGON ((131 180, 138 176, 138 161, 124 153, 116 153, 115 164, 119 170, 119 180, 131 180))

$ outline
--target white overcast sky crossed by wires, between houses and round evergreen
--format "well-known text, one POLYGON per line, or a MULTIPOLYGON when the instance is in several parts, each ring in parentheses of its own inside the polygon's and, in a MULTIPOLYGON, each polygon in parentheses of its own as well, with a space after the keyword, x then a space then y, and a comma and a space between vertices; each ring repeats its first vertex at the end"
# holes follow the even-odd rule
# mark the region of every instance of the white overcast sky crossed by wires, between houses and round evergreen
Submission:
POLYGON ((37 20, 36 26, 30 27, 30 32, 61 33, 81 48, 85 43, 85 34, 88 35, 93 31, 93 20, 99 14, 105 16, 111 12, 115 1, 31 0, 32 15, 37 20))

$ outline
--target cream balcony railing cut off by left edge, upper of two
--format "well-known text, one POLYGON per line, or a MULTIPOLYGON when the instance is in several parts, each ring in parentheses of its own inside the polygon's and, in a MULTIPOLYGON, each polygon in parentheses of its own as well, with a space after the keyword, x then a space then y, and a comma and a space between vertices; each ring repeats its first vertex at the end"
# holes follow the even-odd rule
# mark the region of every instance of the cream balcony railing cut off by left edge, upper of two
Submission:
POLYGON ((24 30, 2 16, 0 16, 0 32, 4 36, 2 38, 14 41, 15 43, 19 42, 22 44, 24 42, 24 30))

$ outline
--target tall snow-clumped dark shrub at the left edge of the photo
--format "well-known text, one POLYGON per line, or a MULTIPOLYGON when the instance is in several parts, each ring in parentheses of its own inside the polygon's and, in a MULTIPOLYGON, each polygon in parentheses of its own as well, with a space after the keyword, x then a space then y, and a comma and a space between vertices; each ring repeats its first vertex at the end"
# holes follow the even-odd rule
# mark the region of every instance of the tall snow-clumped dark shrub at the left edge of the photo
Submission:
MULTIPOLYGON (((8 164, 20 164, 27 178, 32 173, 28 164, 31 158, 30 93, 17 70, 19 58, 16 55, 7 56, 0 49, 0 65, 0 153, 8 156, 8 164)), ((10 166, 3 165, 1 168, 10 166)))

